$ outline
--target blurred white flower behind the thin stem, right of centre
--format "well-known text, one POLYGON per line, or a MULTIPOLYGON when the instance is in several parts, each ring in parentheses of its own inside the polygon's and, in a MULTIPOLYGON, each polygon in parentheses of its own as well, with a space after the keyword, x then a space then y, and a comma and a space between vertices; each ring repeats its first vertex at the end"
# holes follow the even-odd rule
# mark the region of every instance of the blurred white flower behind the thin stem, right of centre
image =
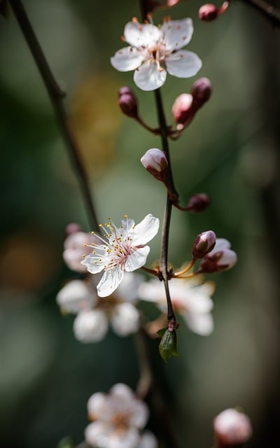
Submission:
MULTIPOLYGON (((171 279, 169 292, 174 312, 181 314, 186 324, 198 335, 209 335, 214 328, 211 309, 214 283, 201 279, 171 279)), ((153 279, 139 286, 139 298, 155 302, 162 311, 166 311, 165 287, 158 279, 153 279)))

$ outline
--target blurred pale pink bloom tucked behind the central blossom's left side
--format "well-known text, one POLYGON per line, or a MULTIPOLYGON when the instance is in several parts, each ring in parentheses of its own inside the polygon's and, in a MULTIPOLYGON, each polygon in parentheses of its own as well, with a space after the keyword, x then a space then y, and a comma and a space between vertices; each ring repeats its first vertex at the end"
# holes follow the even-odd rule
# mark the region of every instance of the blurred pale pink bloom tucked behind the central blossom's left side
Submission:
POLYGON ((72 271, 87 272, 87 268, 81 265, 83 255, 92 251, 85 244, 92 244, 92 235, 85 232, 73 232, 64 240, 64 252, 62 254, 64 262, 72 271))

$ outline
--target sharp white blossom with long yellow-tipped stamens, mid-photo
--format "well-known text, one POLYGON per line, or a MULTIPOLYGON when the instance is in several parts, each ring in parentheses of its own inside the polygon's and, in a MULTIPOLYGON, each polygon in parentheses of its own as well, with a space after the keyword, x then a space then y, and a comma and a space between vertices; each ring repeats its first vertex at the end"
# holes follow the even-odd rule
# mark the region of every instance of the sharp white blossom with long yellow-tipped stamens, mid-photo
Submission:
POLYGON ((104 270, 97 285, 99 297, 112 294, 123 280, 125 271, 132 272, 144 266, 150 252, 150 247, 145 244, 158 233, 159 225, 158 218, 151 214, 137 225, 127 215, 120 228, 111 219, 104 226, 99 225, 103 237, 94 235, 101 244, 92 243, 92 253, 82 261, 91 274, 104 270))

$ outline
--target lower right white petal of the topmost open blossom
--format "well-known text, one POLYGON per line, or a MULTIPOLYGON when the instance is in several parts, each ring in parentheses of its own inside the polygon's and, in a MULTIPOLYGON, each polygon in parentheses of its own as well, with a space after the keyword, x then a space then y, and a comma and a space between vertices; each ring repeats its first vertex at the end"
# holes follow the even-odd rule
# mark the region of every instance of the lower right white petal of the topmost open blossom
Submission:
POLYGON ((200 57, 187 50, 179 50, 165 58, 167 71, 178 78, 195 76, 202 67, 200 57))

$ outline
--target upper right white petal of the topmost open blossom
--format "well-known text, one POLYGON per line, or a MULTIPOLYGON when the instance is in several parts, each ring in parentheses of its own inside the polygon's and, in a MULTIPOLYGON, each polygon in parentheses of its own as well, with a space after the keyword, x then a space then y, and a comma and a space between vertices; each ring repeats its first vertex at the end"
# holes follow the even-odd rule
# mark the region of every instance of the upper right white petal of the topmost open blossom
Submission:
POLYGON ((165 34, 166 50, 179 50, 187 45, 193 36, 193 20, 169 20, 162 25, 162 31, 165 34))

